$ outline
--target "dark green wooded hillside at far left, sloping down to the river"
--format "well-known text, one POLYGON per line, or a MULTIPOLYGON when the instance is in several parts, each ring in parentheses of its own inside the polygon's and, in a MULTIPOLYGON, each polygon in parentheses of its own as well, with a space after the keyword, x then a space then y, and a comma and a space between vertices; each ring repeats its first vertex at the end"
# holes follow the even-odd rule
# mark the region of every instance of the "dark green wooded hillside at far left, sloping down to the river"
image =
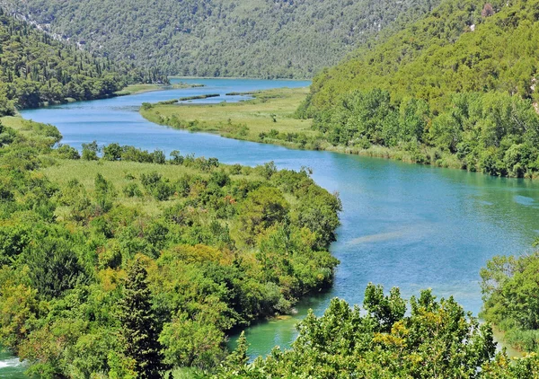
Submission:
POLYGON ((1 8, 0 44, 0 116, 13 114, 15 107, 38 107, 69 98, 99 99, 127 84, 166 80, 156 70, 113 63, 53 40, 1 8))

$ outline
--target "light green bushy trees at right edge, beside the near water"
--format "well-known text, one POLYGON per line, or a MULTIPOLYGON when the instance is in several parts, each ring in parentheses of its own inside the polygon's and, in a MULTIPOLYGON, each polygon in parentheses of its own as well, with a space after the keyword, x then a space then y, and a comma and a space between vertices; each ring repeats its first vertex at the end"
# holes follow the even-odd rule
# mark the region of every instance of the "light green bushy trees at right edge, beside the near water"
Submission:
POLYGON ((539 252, 494 257, 482 269, 482 317, 505 332, 520 351, 539 352, 539 252))

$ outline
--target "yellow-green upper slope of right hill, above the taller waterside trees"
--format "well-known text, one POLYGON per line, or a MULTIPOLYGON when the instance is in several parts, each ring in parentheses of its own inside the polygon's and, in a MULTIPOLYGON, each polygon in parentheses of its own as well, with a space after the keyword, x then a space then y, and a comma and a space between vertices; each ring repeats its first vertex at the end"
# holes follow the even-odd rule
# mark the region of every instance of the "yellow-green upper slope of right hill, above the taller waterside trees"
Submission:
POLYGON ((529 33, 536 4, 444 0, 380 46, 359 48, 354 58, 317 75, 310 105, 329 108, 341 93, 372 88, 388 90, 395 99, 436 100, 447 93, 496 90, 529 96, 530 59, 536 60, 529 33), (526 84, 517 83, 525 79, 520 74, 526 84))

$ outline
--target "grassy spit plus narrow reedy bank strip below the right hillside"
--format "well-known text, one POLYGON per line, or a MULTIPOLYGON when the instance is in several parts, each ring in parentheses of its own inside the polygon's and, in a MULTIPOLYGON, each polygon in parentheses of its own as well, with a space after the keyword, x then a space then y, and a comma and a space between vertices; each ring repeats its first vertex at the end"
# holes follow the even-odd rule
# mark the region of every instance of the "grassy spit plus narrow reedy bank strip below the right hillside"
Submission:
MULTIPOLYGON (((193 132, 216 133, 222 137, 294 149, 356 154, 404 163, 466 169, 466 164, 455 154, 426 145, 410 144, 402 147, 371 145, 367 148, 359 145, 331 145, 320 132, 313 130, 312 119, 295 117, 298 106, 308 93, 308 88, 285 88, 252 93, 250 94, 252 99, 239 102, 225 102, 228 96, 223 96, 223 102, 218 104, 185 102, 151 104, 141 108, 140 114, 159 125, 193 132)), ((230 95, 237 96, 239 93, 230 95)), ((537 176, 530 179, 537 179, 537 176)))

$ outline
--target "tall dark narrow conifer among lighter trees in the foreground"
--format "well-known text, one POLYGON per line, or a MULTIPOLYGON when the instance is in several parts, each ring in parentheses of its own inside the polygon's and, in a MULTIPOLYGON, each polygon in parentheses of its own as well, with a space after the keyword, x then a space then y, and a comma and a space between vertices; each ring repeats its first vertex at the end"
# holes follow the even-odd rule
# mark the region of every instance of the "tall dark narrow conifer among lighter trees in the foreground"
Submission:
POLYGON ((136 259, 128 269, 119 320, 126 344, 125 355, 136 361, 138 378, 154 379, 161 376, 160 372, 165 367, 162 364, 161 344, 157 340, 157 320, 146 277, 143 262, 136 259))

